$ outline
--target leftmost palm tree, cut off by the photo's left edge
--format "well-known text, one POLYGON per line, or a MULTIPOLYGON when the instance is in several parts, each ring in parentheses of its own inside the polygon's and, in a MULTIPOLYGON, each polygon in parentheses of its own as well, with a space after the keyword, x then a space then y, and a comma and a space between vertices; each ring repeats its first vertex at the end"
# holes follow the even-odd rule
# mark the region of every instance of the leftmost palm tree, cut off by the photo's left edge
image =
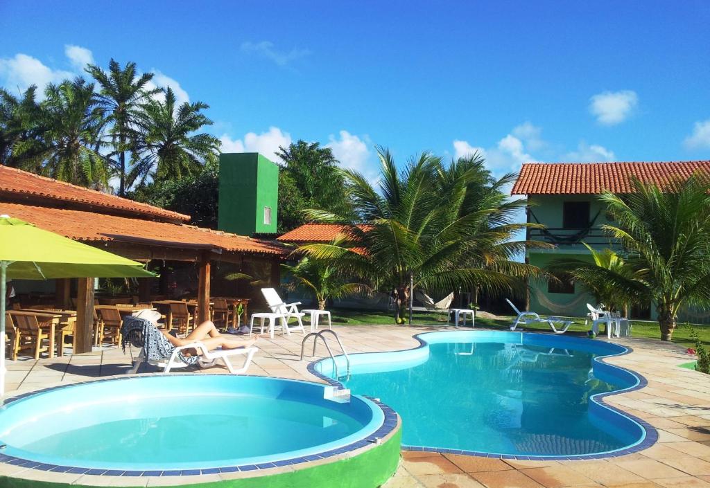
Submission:
POLYGON ((35 169, 41 153, 41 109, 32 85, 21 98, 0 88, 0 165, 35 169))

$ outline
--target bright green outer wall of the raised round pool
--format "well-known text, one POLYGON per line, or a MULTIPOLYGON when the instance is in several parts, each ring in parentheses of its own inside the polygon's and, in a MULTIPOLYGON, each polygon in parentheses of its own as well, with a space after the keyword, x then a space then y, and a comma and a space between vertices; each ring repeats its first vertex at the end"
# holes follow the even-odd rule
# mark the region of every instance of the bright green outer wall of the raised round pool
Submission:
MULTIPOLYGON (((181 484, 192 488, 376 488, 394 475, 400 460, 402 429, 382 445, 337 462, 297 469, 279 475, 181 484)), ((3 488, 89 488, 87 484, 37 482, 0 476, 3 488)))

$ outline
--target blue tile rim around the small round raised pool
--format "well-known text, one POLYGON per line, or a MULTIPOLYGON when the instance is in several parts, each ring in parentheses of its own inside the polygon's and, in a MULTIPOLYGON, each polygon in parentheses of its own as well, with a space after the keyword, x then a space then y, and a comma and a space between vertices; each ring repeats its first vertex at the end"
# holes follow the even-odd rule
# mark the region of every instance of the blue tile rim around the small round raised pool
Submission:
MULTIPOLYGON (((309 365, 310 367, 310 365, 309 365)), ((209 374, 209 373, 199 373, 200 376, 223 376, 223 375, 217 375, 217 374, 209 374)), ((8 399, 5 399, 0 403, 0 406, 8 405, 11 404, 13 401, 18 401, 20 399, 26 398, 26 397, 31 397, 32 395, 36 394, 42 394, 46 392, 51 392, 55 389, 59 388, 68 388, 68 387, 77 387, 81 386, 84 384, 91 384, 91 383, 96 383, 96 382, 112 382, 112 381, 125 381, 128 379, 139 379, 141 377, 146 377, 146 376, 160 376, 163 374, 160 373, 148 373, 148 374, 143 374, 143 375, 126 375, 122 377, 110 377, 110 378, 105 378, 105 379, 90 379, 89 381, 86 382, 79 382, 79 383, 72 383, 72 384, 62 384, 60 386, 55 386, 55 387, 49 387, 49 388, 44 388, 44 389, 39 389, 36 390, 35 392, 28 392, 28 393, 23 393, 20 395, 16 395, 15 397, 10 397, 8 399)), ((195 375, 195 373, 191 372, 176 372, 176 373, 169 373, 169 376, 192 376, 195 375)), ((293 379, 293 378, 284 378, 284 377, 276 377, 276 376, 269 376, 269 377, 264 377, 260 375, 239 375, 241 377, 254 377, 254 378, 273 378, 273 379, 285 379, 290 382, 300 382, 300 383, 309 383, 304 380, 300 379, 293 379)), ((319 386, 323 386, 322 384, 318 384, 319 386)), ((367 439, 373 439, 372 442, 365 442, 364 440, 356 440, 354 443, 350 443, 348 445, 343 446, 342 448, 334 449, 334 450, 329 450, 324 453, 317 453, 315 455, 308 455, 304 457, 293 457, 285 460, 278 460, 278 461, 273 461, 273 462, 263 462, 258 465, 237 465, 237 466, 224 466, 224 467, 215 467, 215 468, 206 468, 203 470, 198 470, 198 469, 190 469, 190 470, 106 470, 106 469, 93 469, 93 468, 87 468, 87 467, 80 467, 80 466, 60 466, 60 465, 50 465, 50 464, 42 464, 40 462, 35 462, 33 460, 28 460, 28 459, 23 459, 22 457, 14 457, 14 456, 9 456, 6 454, 1 454, 0 453, 0 462, 5 462, 7 464, 11 465, 18 465, 21 467, 27 467, 28 469, 33 469, 33 470, 41 470, 41 471, 51 471, 51 472, 67 472, 67 473, 72 473, 72 474, 78 474, 78 475, 94 475, 94 476, 120 476, 120 477, 146 477, 146 476, 160 476, 160 477, 166 477, 166 476, 198 476, 198 475, 208 475, 208 474, 215 474, 219 472, 241 472, 241 471, 255 471, 255 470, 268 470, 268 469, 273 469, 276 467, 282 467, 282 466, 295 466, 295 465, 300 465, 300 464, 307 464, 309 462, 315 461, 315 460, 321 460, 321 459, 326 459, 328 457, 334 457, 337 455, 342 455, 344 453, 350 453, 355 450, 359 450, 361 448, 365 448, 368 445, 372 445, 373 442, 378 442, 383 438, 386 438, 387 436, 390 436, 391 433, 393 433, 398 425, 399 425, 399 417, 398 414, 391 409, 389 406, 386 404, 383 404, 381 401, 377 399, 373 399, 371 397, 367 397, 366 395, 360 395, 360 397, 366 398, 369 401, 371 401, 373 404, 376 404, 379 409, 384 414, 383 417, 383 422, 381 425, 374 431, 373 433, 369 434, 367 436, 367 439)), ((303 466, 304 468, 307 466, 303 466)))

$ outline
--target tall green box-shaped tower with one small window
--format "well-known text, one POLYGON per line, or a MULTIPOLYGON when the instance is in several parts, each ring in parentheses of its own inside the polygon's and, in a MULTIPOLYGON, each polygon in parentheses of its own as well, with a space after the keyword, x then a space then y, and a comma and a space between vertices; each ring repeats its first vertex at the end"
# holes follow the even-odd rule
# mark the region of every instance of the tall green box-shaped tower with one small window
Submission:
POLYGON ((239 235, 275 233, 278 165, 258 153, 219 156, 220 231, 239 235))

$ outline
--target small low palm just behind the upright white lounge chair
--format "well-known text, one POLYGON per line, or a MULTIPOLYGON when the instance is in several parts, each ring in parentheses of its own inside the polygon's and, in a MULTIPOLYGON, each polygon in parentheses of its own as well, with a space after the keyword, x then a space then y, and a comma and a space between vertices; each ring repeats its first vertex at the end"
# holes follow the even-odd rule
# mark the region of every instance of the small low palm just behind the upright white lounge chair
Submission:
POLYGON ((322 260, 303 257, 294 266, 281 267, 293 278, 290 288, 303 289, 312 294, 319 310, 325 309, 328 299, 370 291, 366 284, 347 282, 335 267, 322 260))

